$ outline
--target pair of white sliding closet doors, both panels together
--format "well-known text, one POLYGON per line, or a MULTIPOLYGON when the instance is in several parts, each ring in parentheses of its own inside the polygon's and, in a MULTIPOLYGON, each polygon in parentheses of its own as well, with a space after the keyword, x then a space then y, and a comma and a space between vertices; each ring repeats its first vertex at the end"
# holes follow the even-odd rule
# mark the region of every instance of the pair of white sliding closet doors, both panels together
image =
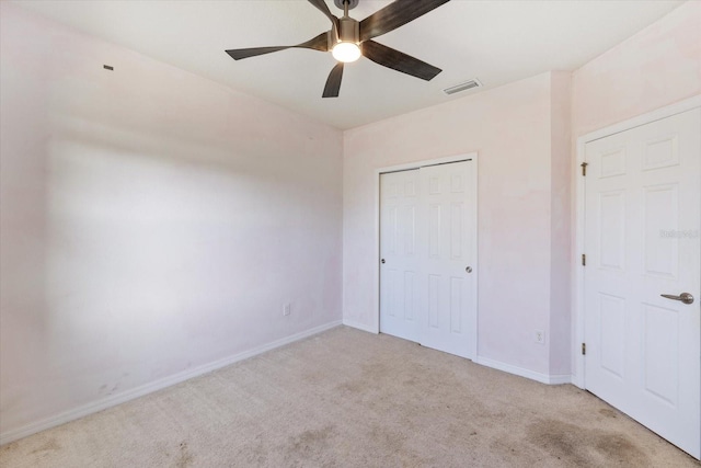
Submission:
POLYGON ((380 175, 380 331, 474 357, 474 161, 380 175))

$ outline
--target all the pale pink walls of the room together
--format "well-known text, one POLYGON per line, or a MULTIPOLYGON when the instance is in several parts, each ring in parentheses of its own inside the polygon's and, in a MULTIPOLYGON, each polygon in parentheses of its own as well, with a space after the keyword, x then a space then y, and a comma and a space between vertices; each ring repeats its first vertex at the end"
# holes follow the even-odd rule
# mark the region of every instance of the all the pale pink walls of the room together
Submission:
POLYGON ((376 168, 471 151, 479 355, 568 374, 571 136, 701 93, 693 1, 572 77, 344 137, 7 2, 0 13, 0 438, 333 323, 342 286, 344 320, 371 328, 376 168))

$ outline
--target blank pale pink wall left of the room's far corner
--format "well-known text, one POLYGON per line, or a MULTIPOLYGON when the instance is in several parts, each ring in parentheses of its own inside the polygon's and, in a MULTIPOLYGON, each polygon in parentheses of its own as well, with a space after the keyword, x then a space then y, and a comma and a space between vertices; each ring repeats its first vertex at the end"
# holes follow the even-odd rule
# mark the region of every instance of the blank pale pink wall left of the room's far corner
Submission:
POLYGON ((0 8, 2 436, 340 322, 341 132, 0 8))

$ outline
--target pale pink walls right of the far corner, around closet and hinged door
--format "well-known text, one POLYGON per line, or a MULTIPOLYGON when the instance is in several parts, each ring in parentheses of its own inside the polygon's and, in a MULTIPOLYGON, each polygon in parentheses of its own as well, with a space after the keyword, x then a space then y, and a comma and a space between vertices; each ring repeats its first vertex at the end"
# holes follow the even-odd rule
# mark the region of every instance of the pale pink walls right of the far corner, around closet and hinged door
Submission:
POLYGON ((480 153, 479 358, 571 372, 578 136, 701 93, 701 2, 586 64, 346 132, 344 321, 374 326, 374 171, 480 153), (535 329, 548 345, 533 344, 535 329))

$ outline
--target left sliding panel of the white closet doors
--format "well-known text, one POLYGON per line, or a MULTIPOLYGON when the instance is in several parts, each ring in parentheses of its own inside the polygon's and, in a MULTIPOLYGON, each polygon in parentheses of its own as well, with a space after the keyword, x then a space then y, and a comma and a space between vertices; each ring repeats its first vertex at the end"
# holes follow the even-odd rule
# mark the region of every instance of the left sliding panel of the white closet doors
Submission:
POLYGON ((418 170, 380 175, 380 331, 420 340, 418 170))

